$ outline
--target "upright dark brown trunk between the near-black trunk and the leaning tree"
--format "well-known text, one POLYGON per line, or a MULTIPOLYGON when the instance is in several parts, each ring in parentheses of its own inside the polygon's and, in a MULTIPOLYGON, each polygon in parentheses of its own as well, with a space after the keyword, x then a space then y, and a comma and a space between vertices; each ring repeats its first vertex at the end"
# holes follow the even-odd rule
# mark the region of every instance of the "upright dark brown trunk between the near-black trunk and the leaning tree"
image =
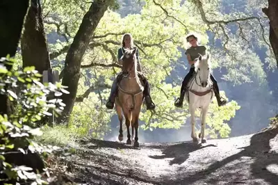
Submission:
POLYGON ((40 74, 51 68, 40 0, 31 0, 21 40, 23 67, 35 66, 40 74))

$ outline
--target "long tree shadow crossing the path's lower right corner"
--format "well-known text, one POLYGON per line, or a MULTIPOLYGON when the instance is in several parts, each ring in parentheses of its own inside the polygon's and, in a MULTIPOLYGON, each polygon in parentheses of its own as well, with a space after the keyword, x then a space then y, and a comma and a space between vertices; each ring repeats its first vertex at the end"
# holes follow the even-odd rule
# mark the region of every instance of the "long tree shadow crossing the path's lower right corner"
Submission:
MULTIPOLYGON (((184 174, 184 176, 188 177, 167 183, 191 184, 199 181, 200 179, 206 179, 207 177, 209 177, 211 173, 217 171, 218 168, 222 168, 223 166, 231 163, 232 161, 240 159, 242 156, 250 156, 252 157, 252 159, 254 159, 254 163, 252 163, 251 165, 251 175, 256 179, 264 179, 265 182, 268 182, 269 184, 277 185, 278 175, 275 175, 267 169, 268 165, 278 163, 278 154, 276 154, 275 152, 270 152, 270 139, 275 138, 277 134, 278 129, 272 129, 260 132, 258 134, 254 134, 254 136, 252 136, 250 140, 250 145, 247 147, 243 147, 244 150, 239 152, 238 154, 231 155, 226 159, 223 159, 222 161, 215 162, 211 164, 211 166, 208 166, 208 168, 206 168, 205 170, 196 172, 194 175, 188 176, 184 174)), ((186 156, 188 156, 188 153, 186 154, 186 156)), ((237 166, 232 166, 232 168, 238 169, 237 166)), ((229 172, 227 171, 227 178, 229 178, 228 173, 229 172)), ((212 179, 209 179, 209 182, 217 184, 220 180, 222 181, 223 179, 219 177, 212 177, 212 179)))

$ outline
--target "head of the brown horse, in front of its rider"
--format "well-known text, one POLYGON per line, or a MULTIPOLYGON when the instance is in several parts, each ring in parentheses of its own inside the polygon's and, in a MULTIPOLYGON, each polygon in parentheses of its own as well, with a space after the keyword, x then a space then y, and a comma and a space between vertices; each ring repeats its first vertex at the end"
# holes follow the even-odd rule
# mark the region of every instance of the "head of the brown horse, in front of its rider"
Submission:
POLYGON ((122 71, 123 72, 131 72, 133 67, 136 67, 136 49, 126 49, 122 56, 122 71))

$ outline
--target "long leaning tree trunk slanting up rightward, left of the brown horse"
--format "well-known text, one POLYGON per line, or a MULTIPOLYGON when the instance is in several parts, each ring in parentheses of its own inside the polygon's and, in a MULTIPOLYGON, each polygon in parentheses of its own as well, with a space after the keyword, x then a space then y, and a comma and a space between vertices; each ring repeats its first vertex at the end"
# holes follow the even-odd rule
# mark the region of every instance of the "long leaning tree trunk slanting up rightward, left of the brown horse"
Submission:
POLYGON ((58 122, 68 122, 69 120, 76 98, 83 55, 90 43, 92 33, 94 33, 97 24, 99 24, 99 20, 104 16, 108 6, 112 5, 113 2, 114 0, 92 1, 92 5, 84 15, 79 31, 77 31, 70 49, 67 51, 62 84, 68 87, 67 90, 70 94, 63 94, 62 96, 66 106, 58 122))

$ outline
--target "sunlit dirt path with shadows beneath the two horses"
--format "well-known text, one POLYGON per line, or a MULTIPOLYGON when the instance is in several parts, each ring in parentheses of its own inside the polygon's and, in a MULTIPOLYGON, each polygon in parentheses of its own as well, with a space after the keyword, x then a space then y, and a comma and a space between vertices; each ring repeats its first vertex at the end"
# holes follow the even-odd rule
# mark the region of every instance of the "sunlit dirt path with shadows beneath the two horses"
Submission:
POLYGON ((90 140, 67 159, 77 184, 278 184, 278 130, 206 144, 90 140))

